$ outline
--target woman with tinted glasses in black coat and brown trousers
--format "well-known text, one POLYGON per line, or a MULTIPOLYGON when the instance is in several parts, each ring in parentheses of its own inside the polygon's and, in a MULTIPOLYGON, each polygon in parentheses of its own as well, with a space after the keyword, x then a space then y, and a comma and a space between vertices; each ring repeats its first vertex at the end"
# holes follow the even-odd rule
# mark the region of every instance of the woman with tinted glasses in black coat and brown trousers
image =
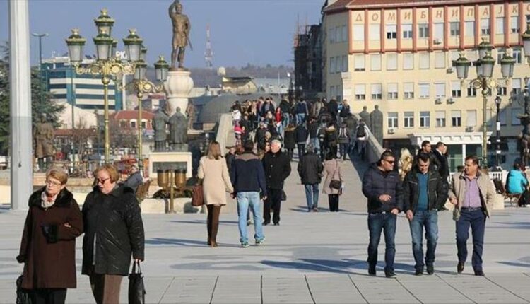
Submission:
POLYGON ((119 303, 122 279, 129 274, 131 255, 143 261, 144 235, 140 207, 130 187, 119 186, 114 165, 95 171, 93 192, 83 205, 85 236, 83 269, 90 277, 95 302, 119 303))

